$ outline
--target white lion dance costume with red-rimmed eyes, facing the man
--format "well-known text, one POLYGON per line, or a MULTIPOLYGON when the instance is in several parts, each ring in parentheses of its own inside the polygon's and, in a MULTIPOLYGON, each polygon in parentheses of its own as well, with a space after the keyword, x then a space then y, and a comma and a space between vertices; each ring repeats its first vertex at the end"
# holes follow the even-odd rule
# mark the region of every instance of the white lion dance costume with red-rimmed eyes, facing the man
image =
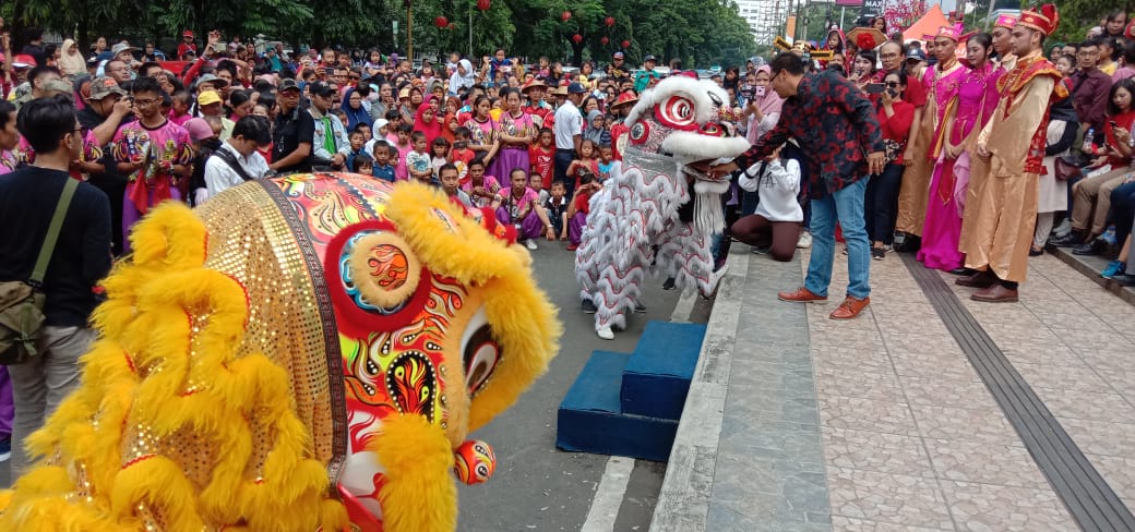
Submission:
MULTIPOLYGON (((646 91, 630 115, 621 168, 591 197, 591 212, 575 254, 581 297, 597 309, 595 330, 614 338, 627 326, 647 269, 711 295, 724 270, 714 272, 712 237, 725 226, 721 195, 729 178, 711 179, 688 164, 733 159, 749 149, 721 121, 729 95, 716 84, 683 76, 646 91), (692 221, 679 210, 693 200, 692 221)), ((621 144, 622 145, 622 144, 621 144)))

